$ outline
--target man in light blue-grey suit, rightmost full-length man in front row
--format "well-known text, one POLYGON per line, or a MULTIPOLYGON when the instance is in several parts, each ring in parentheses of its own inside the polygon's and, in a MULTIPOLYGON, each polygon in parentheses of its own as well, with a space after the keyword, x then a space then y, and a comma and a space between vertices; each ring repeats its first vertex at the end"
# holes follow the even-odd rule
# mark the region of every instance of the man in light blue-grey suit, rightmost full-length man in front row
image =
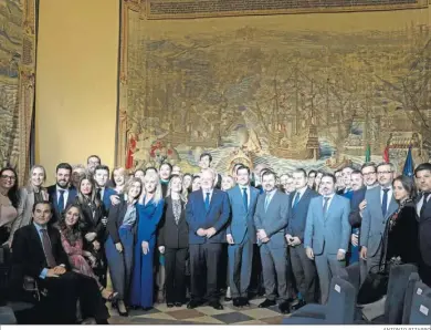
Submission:
POLYGON ((307 257, 316 261, 320 283, 322 303, 329 295, 333 276, 346 266, 346 251, 350 240, 350 202, 335 194, 335 176, 324 174, 322 195, 312 199, 304 235, 307 257))

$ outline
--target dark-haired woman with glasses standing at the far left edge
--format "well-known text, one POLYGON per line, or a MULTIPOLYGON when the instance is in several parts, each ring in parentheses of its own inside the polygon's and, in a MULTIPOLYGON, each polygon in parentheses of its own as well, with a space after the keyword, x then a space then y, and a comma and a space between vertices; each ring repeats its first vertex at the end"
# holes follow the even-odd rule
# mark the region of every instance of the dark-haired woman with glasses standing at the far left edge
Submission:
POLYGON ((14 168, 0 171, 0 245, 8 244, 12 223, 17 219, 20 195, 14 168))

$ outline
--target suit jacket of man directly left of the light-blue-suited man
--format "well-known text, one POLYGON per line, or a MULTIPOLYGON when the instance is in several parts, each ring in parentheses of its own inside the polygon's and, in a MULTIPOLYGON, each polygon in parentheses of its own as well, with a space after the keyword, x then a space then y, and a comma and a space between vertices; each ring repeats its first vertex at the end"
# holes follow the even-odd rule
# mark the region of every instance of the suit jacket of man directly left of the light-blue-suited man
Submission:
POLYGON ((304 231, 307 221, 308 206, 312 202, 312 198, 317 197, 318 194, 307 187, 304 192, 304 195, 301 196, 301 199, 296 205, 295 209, 293 209, 295 194, 296 193, 292 193, 288 198, 288 225, 284 234, 290 234, 293 237, 298 237, 301 241, 304 243, 304 231))

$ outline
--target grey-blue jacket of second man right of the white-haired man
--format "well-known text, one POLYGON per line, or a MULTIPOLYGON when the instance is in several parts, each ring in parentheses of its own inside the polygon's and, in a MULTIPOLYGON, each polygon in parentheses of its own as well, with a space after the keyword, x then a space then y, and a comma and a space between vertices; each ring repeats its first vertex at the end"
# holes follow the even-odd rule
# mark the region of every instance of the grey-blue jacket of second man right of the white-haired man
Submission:
MULTIPOLYGON (((274 193, 265 212, 266 194, 259 195, 256 212, 254 213, 254 226, 256 230, 264 229, 270 241, 270 248, 286 247, 284 229, 288 223, 288 196, 280 190, 274 193)), ((262 245, 259 240, 257 245, 262 245)))

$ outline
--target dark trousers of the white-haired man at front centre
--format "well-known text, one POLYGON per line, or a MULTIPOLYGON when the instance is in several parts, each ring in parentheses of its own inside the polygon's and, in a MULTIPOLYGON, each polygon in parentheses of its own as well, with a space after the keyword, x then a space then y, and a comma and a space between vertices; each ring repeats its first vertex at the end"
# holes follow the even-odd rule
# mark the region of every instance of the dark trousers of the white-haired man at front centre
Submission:
POLYGON ((218 276, 221 259, 221 244, 191 244, 191 299, 219 301, 218 276), (206 290, 207 289, 207 290, 206 290))

